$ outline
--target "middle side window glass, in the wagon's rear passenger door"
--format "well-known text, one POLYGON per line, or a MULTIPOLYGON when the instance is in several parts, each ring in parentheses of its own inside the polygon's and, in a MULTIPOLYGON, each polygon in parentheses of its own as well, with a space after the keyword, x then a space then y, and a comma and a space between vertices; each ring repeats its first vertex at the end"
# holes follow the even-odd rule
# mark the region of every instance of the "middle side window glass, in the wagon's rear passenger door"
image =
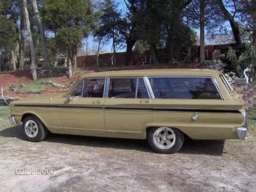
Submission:
POLYGON ((111 78, 109 98, 149 98, 143 78, 111 78))

